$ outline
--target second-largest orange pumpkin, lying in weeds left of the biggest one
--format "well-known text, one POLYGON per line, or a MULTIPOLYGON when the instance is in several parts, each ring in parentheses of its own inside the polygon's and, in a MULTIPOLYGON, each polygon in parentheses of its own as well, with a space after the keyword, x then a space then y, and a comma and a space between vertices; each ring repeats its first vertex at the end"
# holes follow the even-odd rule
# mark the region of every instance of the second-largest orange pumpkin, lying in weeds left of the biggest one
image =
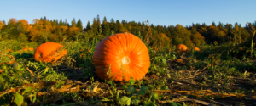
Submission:
POLYGON ((63 45, 55 42, 45 42, 35 50, 35 60, 43 62, 56 62, 62 56, 67 54, 67 50, 62 48, 63 45))

